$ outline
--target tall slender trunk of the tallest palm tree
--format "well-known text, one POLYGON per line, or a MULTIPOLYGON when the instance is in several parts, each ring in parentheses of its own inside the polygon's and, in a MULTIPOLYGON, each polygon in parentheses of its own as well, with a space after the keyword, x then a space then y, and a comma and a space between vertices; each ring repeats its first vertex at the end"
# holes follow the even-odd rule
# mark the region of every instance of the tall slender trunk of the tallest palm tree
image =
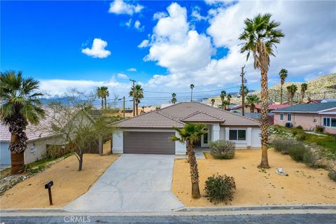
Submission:
POLYGON ((259 167, 269 168, 267 148, 268 148, 268 87, 267 87, 267 73, 261 71, 261 162, 259 167))

